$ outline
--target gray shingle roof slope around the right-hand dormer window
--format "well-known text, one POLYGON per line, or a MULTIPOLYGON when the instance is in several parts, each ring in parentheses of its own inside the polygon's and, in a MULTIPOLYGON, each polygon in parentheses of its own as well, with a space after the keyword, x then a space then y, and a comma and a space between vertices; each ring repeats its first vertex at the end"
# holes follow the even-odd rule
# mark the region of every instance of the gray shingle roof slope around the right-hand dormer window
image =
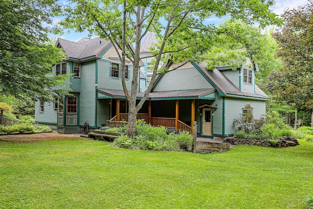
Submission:
POLYGON ((241 96, 253 96, 268 99, 268 95, 264 93, 257 85, 255 85, 255 93, 241 92, 220 70, 206 70, 205 62, 198 64, 203 72, 207 74, 211 80, 225 93, 241 96))

